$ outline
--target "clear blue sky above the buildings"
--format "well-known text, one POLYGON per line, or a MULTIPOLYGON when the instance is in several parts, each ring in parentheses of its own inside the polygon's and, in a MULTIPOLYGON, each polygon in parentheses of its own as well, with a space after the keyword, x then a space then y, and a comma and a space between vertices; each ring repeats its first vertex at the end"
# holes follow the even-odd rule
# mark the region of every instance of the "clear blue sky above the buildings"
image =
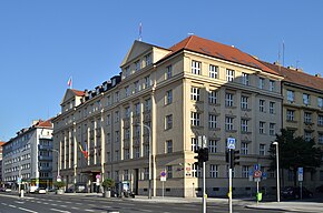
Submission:
POLYGON ((320 0, 1 0, 0 140, 56 115, 69 77, 85 90, 119 73, 140 22, 148 43, 194 33, 268 62, 284 41, 285 65, 323 72, 320 0))

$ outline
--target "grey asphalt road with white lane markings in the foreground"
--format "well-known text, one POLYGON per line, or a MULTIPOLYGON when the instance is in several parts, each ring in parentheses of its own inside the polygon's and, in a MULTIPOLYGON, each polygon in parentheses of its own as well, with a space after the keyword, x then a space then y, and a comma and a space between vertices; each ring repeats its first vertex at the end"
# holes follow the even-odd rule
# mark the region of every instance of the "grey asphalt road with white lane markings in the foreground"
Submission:
MULTIPOLYGON (((163 203, 140 202, 130 199, 101 199, 86 196, 67 196, 55 194, 32 194, 25 199, 17 194, 0 193, 0 213, 198 213, 200 203, 163 203)), ((227 213, 225 204, 209 203, 207 213, 227 213)), ((245 209, 235 205, 234 213, 277 212, 245 209)))

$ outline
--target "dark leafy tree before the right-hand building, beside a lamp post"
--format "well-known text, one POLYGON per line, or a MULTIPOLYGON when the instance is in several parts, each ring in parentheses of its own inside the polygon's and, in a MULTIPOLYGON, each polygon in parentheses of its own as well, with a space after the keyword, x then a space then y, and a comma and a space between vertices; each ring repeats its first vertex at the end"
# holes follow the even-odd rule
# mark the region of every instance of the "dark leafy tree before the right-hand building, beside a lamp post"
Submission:
MULTIPOLYGON (((281 130, 281 135, 276 134, 280 152, 280 168, 292 170, 294 174, 294 185, 297 182, 297 168, 303 168, 304 172, 315 171, 321 165, 322 150, 315 146, 314 140, 305 141, 303 136, 294 138, 293 132, 286 129, 281 130)), ((276 148, 271 146, 271 168, 276 168, 276 148)))

